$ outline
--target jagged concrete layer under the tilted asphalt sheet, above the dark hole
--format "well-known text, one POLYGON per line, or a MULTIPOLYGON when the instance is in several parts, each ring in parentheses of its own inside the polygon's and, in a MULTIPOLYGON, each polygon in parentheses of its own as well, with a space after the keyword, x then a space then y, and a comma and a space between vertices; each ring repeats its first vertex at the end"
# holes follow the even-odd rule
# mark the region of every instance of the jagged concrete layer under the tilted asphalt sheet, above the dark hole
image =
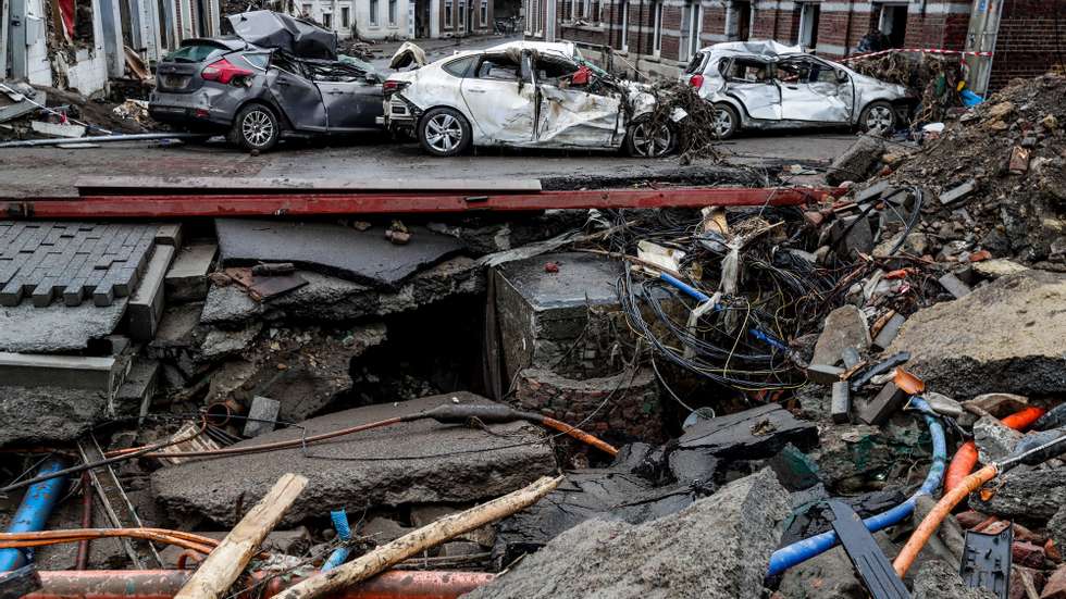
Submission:
POLYGON ((416 310, 449 297, 485 290, 485 277, 476 261, 461 255, 417 273, 395 292, 310 271, 297 271, 297 274, 308 284, 263 303, 253 301, 236 286, 212 286, 201 322, 233 326, 253 320, 354 321, 416 310))

